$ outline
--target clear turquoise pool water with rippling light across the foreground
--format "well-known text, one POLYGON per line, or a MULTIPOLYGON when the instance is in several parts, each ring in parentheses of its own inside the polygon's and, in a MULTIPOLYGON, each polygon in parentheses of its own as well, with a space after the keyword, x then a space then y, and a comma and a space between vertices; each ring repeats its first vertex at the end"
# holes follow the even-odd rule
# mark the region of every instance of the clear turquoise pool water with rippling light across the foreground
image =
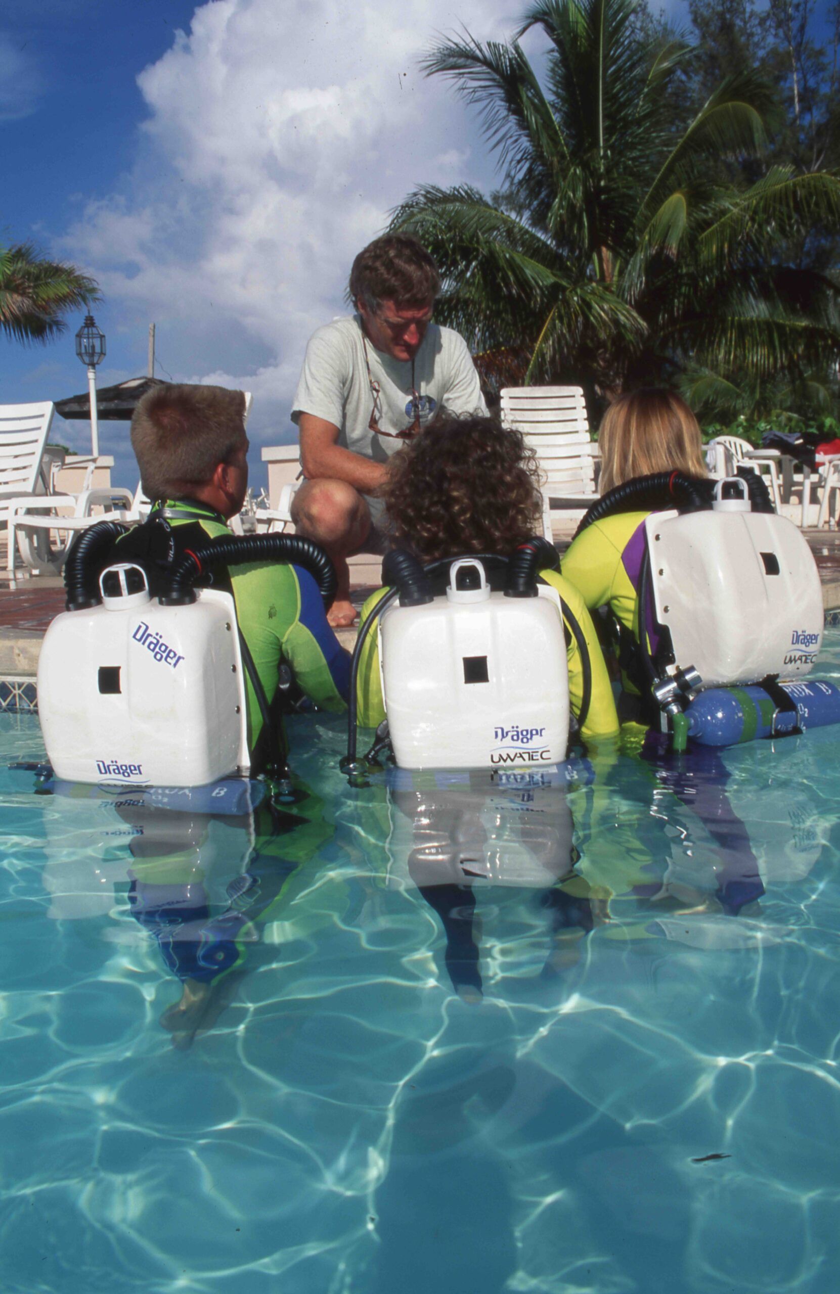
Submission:
POLYGON ((351 792, 300 721, 273 836, 0 738, 4 1294, 837 1289, 836 729, 351 792))

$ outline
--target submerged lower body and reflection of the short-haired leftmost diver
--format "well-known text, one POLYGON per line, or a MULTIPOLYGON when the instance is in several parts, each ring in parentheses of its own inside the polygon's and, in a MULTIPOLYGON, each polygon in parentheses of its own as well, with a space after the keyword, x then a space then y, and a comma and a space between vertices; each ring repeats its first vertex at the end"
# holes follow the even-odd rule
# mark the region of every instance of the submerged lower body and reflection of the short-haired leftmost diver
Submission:
MULTIPOLYGON (((294 802, 282 805, 272 802, 263 783, 238 779, 122 791, 54 782, 49 789, 94 800, 123 824, 105 831, 110 851, 118 846, 122 858, 97 867, 97 879, 127 876, 129 912, 181 986, 160 1025, 175 1047, 192 1046, 233 1000, 290 879, 331 837, 324 801, 300 782, 294 802)), ((89 880, 69 893, 67 879, 62 867, 50 915, 107 911, 111 893, 97 892, 89 880)))

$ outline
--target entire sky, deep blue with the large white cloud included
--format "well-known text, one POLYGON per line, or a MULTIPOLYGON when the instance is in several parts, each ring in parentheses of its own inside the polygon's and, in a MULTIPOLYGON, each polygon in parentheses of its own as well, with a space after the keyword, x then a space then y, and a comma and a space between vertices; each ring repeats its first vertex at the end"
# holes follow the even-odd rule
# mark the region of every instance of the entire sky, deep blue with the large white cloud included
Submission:
MULTIPOLYGON (((520 0, 18 0, 0 13, 0 236, 92 273, 102 386, 145 373, 255 395, 259 448, 294 439, 311 331, 343 313, 355 252, 418 181, 487 186, 476 122, 417 58, 463 22, 503 38, 520 0)), ((0 339, 0 400, 84 389, 72 335, 0 339)), ((87 423, 54 439, 89 448, 87 423)), ((114 480, 128 426, 104 423, 114 480)))

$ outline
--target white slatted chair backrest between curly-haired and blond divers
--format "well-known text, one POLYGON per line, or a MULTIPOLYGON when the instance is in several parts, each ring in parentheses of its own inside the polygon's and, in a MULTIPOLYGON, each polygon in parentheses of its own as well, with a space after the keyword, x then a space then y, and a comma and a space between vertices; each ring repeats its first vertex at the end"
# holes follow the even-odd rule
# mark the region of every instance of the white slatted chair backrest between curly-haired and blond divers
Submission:
POLYGON ((542 484, 542 528, 580 516, 598 498, 586 401, 580 387, 505 387, 502 423, 520 431, 542 484))

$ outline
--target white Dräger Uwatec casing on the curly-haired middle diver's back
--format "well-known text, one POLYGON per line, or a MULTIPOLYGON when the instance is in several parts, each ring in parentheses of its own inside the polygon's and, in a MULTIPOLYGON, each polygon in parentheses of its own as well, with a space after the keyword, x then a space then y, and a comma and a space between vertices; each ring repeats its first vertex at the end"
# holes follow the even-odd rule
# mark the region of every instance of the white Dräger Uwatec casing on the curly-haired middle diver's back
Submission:
POLYGON ((382 694, 400 767, 566 758, 568 672, 559 597, 544 585, 536 598, 475 593, 470 602, 440 597, 421 607, 395 604, 382 616, 382 694))

